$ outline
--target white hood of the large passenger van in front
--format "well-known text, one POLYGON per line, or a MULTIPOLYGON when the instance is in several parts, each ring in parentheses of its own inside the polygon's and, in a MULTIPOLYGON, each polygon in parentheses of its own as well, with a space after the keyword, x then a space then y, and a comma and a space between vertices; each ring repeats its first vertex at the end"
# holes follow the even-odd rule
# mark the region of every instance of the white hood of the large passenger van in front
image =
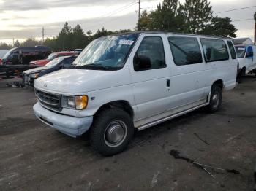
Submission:
POLYGON ((130 82, 129 68, 118 71, 101 71, 86 69, 61 69, 35 80, 34 87, 53 92, 79 94, 102 90, 130 82))

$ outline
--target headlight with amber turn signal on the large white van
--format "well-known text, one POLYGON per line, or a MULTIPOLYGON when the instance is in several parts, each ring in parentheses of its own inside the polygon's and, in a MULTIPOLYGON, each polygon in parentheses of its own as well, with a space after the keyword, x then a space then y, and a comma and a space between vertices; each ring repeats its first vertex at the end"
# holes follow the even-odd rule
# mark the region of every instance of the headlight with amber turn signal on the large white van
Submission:
POLYGON ((80 95, 80 96, 63 96, 62 106, 66 106, 73 109, 86 109, 88 104, 88 96, 80 95))

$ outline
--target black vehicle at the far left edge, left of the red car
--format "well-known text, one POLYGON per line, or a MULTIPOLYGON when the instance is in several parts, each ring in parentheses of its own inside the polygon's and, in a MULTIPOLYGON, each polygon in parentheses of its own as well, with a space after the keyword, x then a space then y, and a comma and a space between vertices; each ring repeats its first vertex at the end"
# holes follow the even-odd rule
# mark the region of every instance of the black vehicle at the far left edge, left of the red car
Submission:
POLYGON ((7 77, 19 74, 34 66, 29 66, 30 61, 47 57, 50 54, 48 47, 15 47, 9 50, 0 61, 0 72, 7 77))

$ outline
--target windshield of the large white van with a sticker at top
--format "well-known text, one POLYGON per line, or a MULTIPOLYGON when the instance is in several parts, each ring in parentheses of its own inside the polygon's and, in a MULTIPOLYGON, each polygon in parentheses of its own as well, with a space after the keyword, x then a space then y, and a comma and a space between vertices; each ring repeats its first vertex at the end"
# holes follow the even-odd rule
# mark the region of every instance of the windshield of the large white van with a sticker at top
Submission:
POLYGON ((73 65, 77 69, 118 70, 124 66, 138 34, 104 36, 91 42, 73 65))

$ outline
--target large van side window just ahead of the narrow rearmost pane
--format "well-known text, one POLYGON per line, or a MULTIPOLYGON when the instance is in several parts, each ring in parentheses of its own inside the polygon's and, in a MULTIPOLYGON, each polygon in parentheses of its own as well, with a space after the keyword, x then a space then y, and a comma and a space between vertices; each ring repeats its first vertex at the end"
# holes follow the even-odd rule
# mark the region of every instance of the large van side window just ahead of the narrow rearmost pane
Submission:
POLYGON ((200 39, 206 62, 225 61, 229 59, 227 46, 222 39, 200 39))

